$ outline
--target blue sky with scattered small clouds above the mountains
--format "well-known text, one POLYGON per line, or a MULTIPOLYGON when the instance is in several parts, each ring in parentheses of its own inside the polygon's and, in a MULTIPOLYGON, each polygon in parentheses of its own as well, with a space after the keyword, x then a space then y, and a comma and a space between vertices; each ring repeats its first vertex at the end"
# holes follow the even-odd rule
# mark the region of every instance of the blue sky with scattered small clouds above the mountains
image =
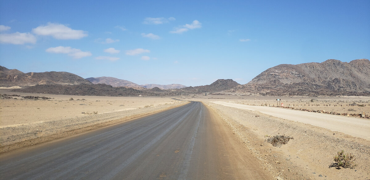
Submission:
POLYGON ((0 1, 0 65, 137 84, 246 84, 370 58, 370 1, 0 1))

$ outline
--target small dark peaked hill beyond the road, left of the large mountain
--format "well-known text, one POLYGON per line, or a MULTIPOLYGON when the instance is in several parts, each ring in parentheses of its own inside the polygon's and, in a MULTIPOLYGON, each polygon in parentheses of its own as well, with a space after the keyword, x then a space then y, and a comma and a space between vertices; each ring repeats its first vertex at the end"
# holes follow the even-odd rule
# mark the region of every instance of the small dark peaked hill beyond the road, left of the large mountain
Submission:
POLYGON ((185 92, 191 92, 191 93, 212 93, 212 92, 229 90, 238 85, 240 84, 233 81, 232 79, 219 79, 210 85, 195 86, 195 87, 190 86, 190 87, 181 88, 180 90, 185 91, 185 92))

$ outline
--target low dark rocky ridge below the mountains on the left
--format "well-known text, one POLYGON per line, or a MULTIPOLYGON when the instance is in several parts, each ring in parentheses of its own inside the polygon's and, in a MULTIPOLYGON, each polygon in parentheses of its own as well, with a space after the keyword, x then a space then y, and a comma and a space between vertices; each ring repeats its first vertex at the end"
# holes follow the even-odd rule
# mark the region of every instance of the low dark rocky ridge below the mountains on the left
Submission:
POLYGON ((79 84, 79 85, 36 85, 12 91, 23 93, 44 93, 82 96, 159 96, 151 92, 144 92, 132 88, 112 87, 107 84, 79 84))

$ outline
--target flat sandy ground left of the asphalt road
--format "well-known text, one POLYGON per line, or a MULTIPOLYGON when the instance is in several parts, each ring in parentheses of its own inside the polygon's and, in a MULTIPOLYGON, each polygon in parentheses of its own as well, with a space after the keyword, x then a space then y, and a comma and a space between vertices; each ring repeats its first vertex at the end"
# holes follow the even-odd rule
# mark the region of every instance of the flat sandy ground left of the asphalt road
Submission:
MULTIPOLYGON (((0 91, 0 94, 15 93, 0 91)), ((171 97, 17 94, 51 99, 30 100, 16 96, 17 99, 0 99, 0 153, 187 103, 171 97)))

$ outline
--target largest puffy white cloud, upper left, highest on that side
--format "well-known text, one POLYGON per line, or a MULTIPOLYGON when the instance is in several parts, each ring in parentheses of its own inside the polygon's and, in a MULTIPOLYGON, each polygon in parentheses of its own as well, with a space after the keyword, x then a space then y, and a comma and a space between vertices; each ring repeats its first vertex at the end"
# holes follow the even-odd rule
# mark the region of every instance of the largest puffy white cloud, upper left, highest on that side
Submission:
POLYGON ((48 23, 46 26, 38 26, 32 32, 40 36, 52 36, 55 39, 81 39, 88 36, 86 31, 74 30, 63 24, 48 23))

